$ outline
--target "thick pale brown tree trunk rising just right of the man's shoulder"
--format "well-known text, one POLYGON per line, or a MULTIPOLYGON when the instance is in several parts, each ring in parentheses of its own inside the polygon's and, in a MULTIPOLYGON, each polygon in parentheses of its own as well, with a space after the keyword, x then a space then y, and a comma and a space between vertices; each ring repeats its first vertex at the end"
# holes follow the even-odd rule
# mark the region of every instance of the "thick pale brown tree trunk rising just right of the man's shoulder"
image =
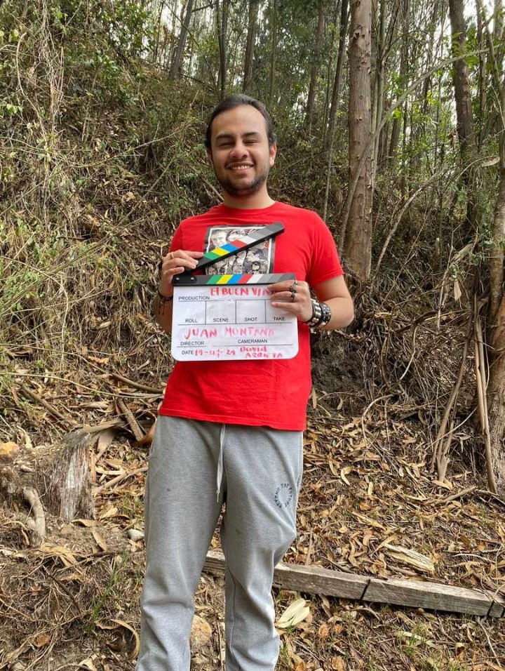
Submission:
POLYGON ((370 0, 351 0, 349 44, 349 224, 342 222, 341 246, 358 279, 370 277, 372 260, 372 183, 370 0))

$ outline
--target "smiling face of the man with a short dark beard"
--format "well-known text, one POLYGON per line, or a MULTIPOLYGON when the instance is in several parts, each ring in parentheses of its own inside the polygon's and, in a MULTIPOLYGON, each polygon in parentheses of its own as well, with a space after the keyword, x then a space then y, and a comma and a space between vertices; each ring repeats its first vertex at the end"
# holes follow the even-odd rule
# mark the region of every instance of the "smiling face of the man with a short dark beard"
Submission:
POLYGON ((233 197, 257 193, 274 165, 277 147, 269 147, 267 122, 251 105, 218 114, 208 152, 223 189, 233 197))

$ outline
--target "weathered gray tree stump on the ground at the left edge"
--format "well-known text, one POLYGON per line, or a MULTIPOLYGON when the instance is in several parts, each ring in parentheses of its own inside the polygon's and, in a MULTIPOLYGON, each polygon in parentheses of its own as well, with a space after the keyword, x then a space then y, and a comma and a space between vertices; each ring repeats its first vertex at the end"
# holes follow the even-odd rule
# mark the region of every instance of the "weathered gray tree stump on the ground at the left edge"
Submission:
POLYGON ((55 445, 21 449, 10 463, 0 463, 0 503, 28 503, 34 543, 45 536, 45 512, 65 521, 93 517, 89 453, 95 439, 86 430, 72 432, 55 445))

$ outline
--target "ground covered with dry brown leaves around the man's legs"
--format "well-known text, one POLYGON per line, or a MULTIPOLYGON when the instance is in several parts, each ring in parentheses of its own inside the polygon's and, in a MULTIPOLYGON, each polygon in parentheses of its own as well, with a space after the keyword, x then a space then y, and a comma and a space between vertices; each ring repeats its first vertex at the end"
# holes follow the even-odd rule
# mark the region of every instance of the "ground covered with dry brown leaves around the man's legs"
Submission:
MULTIPOLYGON (((96 365, 105 363, 92 358, 96 365)), ((101 399, 71 380, 48 378, 38 387, 63 418, 72 413, 82 423, 97 424, 114 417, 118 425, 98 434, 93 448, 96 519, 65 524, 48 519, 43 544, 32 547, 27 510, 0 508, 0 669, 135 666, 144 547, 132 530, 142 531, 149 448, 135 445, 131 417, 121 412, 118 399, 147 432, 159 390, 149 380, 139 386, 121 376, 102 376, 111 395, 101 399)), ((36 415, 35 408, 34 401, 32 428, 38 425, 49 441, 58 431, 54 413, 39 407, 36 415)), ((362 406, 354 415, 352 408, 349 397, 322 391, 312 396, 299 533, 285 561, 504 594, 504 503, 486 493, 464 446, 440 483, 430 470, 420 413, 386 401, 362 406)), ((20 430, 17 439, 21 452, 38 449, 29 430, 20 430)), ((207 574, 198 587, 193 665, 201 671, 224 669, 222 587, 222 578, 207 574)), ((503 618, 284 590, 275 590, 275 597, 281 670, 504 667, 503 618), (295 609, 295 619, 292 610, 286 617, 288 607, 295 609)))

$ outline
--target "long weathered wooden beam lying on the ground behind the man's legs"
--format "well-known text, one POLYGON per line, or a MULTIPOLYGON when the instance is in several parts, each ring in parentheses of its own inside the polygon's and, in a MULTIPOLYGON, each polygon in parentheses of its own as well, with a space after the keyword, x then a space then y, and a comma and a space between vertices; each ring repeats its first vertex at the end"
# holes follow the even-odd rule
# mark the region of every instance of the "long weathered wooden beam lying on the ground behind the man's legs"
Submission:
MULTIPOLYGON (((210 550, 204 570, 224 573, 224 555, 210 550)), ((274 585, 283 590, 326 594, 340 599, 411 606, 469 615, 505 616, 505 599, 464 587, 417 580, 377 580, 354 573, 330 571, 321 566, 300 566, 281 562, 276 566, 274 585)))

